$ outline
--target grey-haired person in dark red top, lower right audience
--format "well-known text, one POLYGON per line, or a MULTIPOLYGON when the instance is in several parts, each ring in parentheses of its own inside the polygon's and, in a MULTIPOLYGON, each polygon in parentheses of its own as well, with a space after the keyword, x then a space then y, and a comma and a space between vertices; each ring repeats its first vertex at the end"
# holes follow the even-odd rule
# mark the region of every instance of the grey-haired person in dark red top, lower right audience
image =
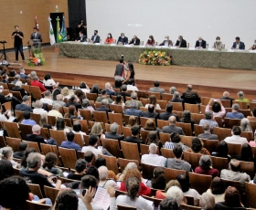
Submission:
POLYGON ((211 175, 212 178, 219 176, 219 171, 212 167, 212 161, 209 155, 202 155, 199 160, 199 166, 195 169, 195 173, 211 175))

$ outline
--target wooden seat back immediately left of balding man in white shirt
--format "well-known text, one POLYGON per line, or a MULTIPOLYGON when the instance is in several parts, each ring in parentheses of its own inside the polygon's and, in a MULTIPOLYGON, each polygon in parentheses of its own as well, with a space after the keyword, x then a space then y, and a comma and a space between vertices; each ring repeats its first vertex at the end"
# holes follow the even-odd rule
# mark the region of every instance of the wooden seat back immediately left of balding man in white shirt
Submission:
POLYGON ((123 157, 125 159, 136 160, 141 163, 140 153, 138 151, 137 143, 123 142, 121 141, 121 147, 123 151, 123 157))

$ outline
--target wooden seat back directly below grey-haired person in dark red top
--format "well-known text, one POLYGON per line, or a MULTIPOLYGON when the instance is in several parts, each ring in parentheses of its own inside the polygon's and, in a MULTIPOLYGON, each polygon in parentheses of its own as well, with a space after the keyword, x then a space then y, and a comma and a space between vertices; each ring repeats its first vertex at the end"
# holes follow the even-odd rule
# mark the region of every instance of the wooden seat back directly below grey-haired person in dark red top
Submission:
POLYGON ((207 192, 212 181, 212 176, 198 173, 189 173, 189 181, 191 188, 197 190, 199 194, 203 194, 207 192))

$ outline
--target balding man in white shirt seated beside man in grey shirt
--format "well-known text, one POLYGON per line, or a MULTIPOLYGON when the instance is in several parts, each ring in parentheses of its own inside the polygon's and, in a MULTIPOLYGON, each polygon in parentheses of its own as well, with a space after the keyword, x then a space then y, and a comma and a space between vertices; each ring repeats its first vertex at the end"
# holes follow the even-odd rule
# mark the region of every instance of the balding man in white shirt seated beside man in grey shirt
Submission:
POLYGON ((149 152, 149 154, 144 154, 142 156, 141 163, 165 167, 166 158, 156 154, 157 146, 155 145, 155 143, 151 143, 149 145, 148 152, 149 152))

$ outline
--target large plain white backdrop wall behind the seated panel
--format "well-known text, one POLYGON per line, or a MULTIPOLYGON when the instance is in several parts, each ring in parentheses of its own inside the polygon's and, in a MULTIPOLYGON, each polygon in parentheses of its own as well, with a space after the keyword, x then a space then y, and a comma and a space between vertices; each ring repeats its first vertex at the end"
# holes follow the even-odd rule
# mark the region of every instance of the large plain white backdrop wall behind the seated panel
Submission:
POLYGON ((121 32, 146 42, 150 35, 162 42, 165 35, 176 42, 179 35, 195 46, 197 37, 209 44, 217 36, 226 48, 235 37, 248 49, 256 39, 256 0, 85 0, 88 36, 99 31, 101 43, 108 33, 121 32))

